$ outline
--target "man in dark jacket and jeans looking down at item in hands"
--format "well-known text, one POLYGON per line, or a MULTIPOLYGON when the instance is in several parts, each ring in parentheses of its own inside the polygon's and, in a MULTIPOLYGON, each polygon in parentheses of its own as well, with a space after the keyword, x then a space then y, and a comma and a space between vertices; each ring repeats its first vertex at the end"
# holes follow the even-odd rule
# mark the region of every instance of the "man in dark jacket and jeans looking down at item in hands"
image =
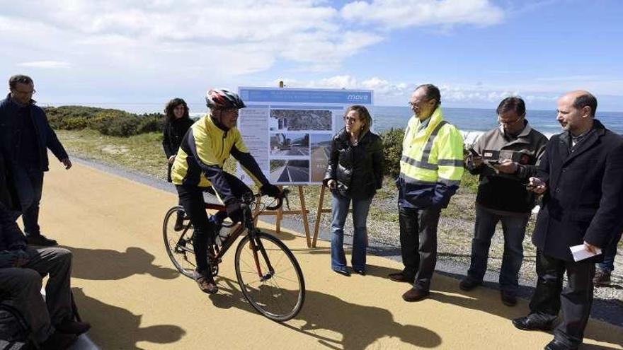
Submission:
POLYGON ((537 161, 547 144, 547 137, 530 127, 525 119, 525 103, 509 97, 498 106, 496 127, 479 137, 474 152, 467 158, 470 173, 480 175, 476 196, 476 222, 471 240, 471 263, 467 277, 459 287, 470 291, 482 284, 487 269, 491 238, 498 222, 504 233, 504 254, 500 271, 500 291, 504 305, 517 303, 519 269, 523 261, 523 238, 535 206, 535 194, 524 183, 534 176, 537 161), (494 163, 484 162, 485 153, 498 153, 494 163), (501 162, 499 162, 501 161, 501 162))

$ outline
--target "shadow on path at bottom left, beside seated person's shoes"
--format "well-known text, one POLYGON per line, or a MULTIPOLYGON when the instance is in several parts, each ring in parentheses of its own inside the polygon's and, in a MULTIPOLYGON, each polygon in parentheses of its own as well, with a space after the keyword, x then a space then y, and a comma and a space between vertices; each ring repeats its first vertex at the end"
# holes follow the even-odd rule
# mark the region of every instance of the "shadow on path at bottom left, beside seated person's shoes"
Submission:
POLYGON ((141 315, 88 297, 81 288, 72 288, 72 292, 82 318, 93 325, 88 337, 99 346, 105 344, 105 349, 142 349, 137 342, 168 344, 186 333, 176 325, 141 327, 141 315))

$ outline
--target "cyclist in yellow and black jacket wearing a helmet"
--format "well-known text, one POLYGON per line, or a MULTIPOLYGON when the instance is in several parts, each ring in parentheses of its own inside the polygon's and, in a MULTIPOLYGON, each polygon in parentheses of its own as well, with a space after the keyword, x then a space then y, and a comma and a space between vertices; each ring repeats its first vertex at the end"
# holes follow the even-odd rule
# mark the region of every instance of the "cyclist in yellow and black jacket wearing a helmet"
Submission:
POLYGON ((205 293, 216 293, 218 288, 207 264, 207 245, 214 244, 217 226, 207 217, 203 192, 212 187, 227 206, 229 218, 234 222, 241 221, 240 198, 251 189, 238 177, 223 170, 230 155, 261 186, 263 194, 278 197, 281 192, 275 185, 270 185, 236 129, 238 110, 246 107, 239 95, 224 89, 212 89, 207 92, 205 101, 210 114, 200 118, 186 132, 173 162, 171 180, 195 230, 195 280, 205 293))

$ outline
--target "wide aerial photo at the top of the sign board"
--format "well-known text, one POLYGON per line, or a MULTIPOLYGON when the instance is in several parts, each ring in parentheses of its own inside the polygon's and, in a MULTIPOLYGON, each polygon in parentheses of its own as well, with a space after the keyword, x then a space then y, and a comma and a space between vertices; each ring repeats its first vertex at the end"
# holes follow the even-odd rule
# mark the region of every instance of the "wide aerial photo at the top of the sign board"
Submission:
POLYGON ((331 110, 270 110, 271 131, 331 131, 331 110))

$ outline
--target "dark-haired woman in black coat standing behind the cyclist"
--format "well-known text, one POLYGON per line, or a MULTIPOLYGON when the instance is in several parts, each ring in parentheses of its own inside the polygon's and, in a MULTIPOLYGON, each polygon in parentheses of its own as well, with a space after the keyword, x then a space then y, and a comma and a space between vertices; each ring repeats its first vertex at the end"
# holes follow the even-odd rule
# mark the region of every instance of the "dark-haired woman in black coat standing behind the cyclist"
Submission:
MULTIPOLYGON (((190 119, 188 105, 181 98, 173 98, 173 100, 168 101, 166 107, 164 107, 164 115, 165 124, 162 148, 164 148, 167 161, 166 180, 171 182, 171 166, 173 166, 173 161, 175 161, 184 135, 190 126, 193 125, 193 119, 190 119)), ((183 228, 182 222, 183 216, 178 216, 175 224, 176 231, 180 231, 183 228)))

